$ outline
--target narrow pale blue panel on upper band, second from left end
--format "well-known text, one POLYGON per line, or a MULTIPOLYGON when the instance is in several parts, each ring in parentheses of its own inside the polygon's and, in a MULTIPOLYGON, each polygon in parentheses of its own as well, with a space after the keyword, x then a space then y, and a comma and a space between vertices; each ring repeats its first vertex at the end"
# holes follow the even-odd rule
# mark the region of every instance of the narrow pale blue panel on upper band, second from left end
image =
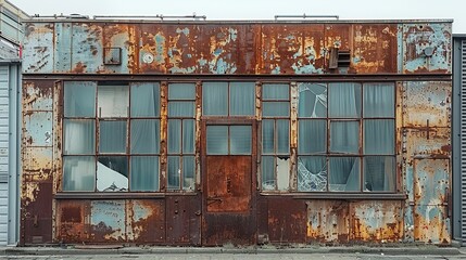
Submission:
POLYGON ((68 73, 72 68, 72 23, 55 23, 53 46, 53 73, 68 73))

